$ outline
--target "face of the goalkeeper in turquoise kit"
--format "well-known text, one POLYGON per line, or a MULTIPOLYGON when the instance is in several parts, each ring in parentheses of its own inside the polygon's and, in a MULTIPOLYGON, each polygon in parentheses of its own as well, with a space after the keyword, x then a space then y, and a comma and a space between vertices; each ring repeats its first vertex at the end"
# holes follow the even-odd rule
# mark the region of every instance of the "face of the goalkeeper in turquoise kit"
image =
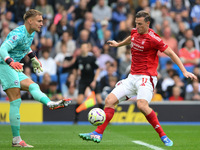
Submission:
POLYGON ((40 15, 31 18, 31 29, 36 32, 40 32, 41 27, 43 26, 43 18, 40 15))

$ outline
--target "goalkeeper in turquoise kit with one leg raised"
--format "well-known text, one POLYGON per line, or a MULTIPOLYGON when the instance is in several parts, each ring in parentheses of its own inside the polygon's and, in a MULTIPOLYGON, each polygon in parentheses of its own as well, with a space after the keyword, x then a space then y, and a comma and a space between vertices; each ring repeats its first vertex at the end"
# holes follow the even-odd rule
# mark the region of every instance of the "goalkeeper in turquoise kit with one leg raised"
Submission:
POLYGON ((66 99, 57 102, 51 101, 41 92, 38 84, 22 72, 23 64, 19 62, 27 54, 32 61, 33 70, 35 72, 43 71, 42 64, 30 48, 35 31, 40 32, 43 26, 42 13, 30 9, 24 14, 24 21, 24 25, 15 28, 8 34, 0 47, 0 83, 9 97, 9 119, 13 135, 13 147, 33 147, 26 144, 20 137, 20 90, 29 91, 35 100, 45 104, 50 109, 65 107, 71 102, 66 99))

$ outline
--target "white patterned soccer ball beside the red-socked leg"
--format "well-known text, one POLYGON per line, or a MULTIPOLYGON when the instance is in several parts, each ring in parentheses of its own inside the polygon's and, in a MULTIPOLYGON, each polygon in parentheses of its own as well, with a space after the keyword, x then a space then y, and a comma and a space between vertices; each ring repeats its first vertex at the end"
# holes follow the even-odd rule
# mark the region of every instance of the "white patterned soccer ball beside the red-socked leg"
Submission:
POLYGON ((94 126, 102 125, 105 120, 106 120, 106 114, 100 108, 93 108, 88 113, 88 121, 94 126))

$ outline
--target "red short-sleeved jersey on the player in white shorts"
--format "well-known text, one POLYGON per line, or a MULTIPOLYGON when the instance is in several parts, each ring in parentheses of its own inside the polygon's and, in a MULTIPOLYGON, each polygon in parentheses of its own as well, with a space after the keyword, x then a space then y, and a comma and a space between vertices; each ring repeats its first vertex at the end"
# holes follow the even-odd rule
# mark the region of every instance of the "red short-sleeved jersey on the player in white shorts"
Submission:
POLYGON ((149 29, 147 34, 139 34, 136 28, 131 31, 131 74, 157 76, 158 50, 168 48, 158 34, 149 29))

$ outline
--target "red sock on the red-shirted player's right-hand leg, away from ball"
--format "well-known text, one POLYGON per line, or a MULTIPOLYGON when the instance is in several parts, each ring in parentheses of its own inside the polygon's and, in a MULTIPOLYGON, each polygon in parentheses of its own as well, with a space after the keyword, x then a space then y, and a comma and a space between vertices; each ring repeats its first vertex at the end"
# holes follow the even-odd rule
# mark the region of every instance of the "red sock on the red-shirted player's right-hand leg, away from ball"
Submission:
POLYGON ((156 130, 156 132, 159 134, 160 137, 162 137, 163 135, 166 135, 158 121, 156 113, 153 110, 150 114, 146 116, 146 118, 149 121, 149 123, 153 126, 153 128, 156 130))

